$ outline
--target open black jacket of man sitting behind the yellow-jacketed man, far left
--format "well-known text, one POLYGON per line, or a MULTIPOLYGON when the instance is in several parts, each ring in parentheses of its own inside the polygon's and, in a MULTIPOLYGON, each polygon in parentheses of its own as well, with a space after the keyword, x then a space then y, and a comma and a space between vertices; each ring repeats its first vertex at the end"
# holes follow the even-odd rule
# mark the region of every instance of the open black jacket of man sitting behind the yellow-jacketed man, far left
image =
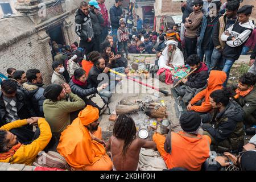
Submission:
MULTIPOLYGON (((20 90, 16 93, 16 107, 17 114, 20 119, 26 119, 30 117, 36 117, 35 111, 32 109, 31 105, 27 102, 27 97, 20 90)), ((5 102, 3 102, 3 93, 0 91, 0 126, 5 125, 6 122, 6 107, 5 102)))

